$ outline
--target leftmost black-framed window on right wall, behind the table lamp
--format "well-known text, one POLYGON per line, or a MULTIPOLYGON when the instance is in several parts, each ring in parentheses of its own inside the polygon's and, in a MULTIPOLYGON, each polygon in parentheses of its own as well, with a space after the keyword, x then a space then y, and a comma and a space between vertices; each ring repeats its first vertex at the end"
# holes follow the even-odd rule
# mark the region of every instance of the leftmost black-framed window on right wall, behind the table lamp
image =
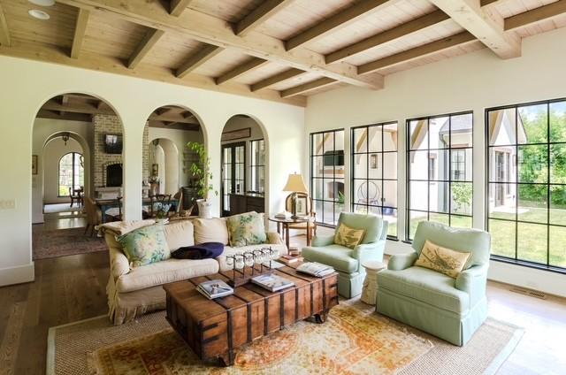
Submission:
POLYGON ((310 194, 317 223, 335 226, 344 210, 344 130, 310 134, 310 194))

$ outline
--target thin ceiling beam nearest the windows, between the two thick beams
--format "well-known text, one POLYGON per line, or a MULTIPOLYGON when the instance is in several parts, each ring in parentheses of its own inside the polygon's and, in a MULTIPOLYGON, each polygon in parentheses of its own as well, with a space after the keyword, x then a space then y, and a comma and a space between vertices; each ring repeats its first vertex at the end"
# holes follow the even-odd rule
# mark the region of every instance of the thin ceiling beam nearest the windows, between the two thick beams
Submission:
POLYGON ((359 74, 372 73, 387 66, 404 63, 410 60, 414 60, 418 57, 424 57, 432 53, 440 52, 441 50, 447 50, 449 48, 475 40, 476 38, 474 35, 470 34, 467 31, 464 31, 460 34, 455 34, 448 36, 447 38, 440 39, 439 41, 430 42, 410 50, 404 50, 391 56, 379 58, 379 60, 371 61, 370 63, 359 65, 357 67, 357 72, 359 74))

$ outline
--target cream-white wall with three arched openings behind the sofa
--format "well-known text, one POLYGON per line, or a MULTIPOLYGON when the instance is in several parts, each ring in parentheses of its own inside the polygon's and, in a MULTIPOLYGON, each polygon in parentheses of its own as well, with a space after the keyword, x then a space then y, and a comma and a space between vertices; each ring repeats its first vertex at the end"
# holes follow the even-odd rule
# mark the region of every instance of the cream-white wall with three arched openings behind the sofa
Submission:
MULTIPOLYGON (((238 113, 258 119, 273 142, 270 184, 266 197, 270 210, 280 210, 281 189, 287 174, 302 168, 304 109, 243 96, 186 88, 157 81, 100 73, 31 60, 0 57, 0 200, 15 208, 0 210, 0 286, 34 278, 31 252, 32 130, 43 103, 64 93, 84 93, 102 98, 124 125, 124 211, 126 219, 142 217, 142 134, 151 111, 163 105, 180 105, 195 113, 205 128, 205 143, 213 165, 214 185, 219 187, 220 134, 226 121, 238 113), (281 157, 281 156, 285 157, 281 157), (279 157, 275 157, 279 156, 279 157)), ((219 214, 219 198, 213 209, 219 214)))

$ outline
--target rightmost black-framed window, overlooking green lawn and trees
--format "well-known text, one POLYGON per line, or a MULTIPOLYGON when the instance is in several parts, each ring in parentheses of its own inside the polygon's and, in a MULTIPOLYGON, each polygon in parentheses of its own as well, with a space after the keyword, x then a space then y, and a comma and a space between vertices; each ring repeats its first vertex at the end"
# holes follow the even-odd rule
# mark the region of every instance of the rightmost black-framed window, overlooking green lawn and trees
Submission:
POLYGON ((566 100, 486 110, 492 254, 566 268, 566 100))

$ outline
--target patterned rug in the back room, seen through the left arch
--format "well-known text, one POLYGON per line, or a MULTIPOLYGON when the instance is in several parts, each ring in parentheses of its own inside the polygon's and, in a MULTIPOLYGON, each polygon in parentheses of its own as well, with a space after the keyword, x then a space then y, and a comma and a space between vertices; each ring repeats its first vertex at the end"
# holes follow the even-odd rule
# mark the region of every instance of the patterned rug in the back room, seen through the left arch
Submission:
POLYGON ((103 238, 84 233, 84 227, 45 231, 42 225, 32 226, 34 260, 108 251, 103 238))

